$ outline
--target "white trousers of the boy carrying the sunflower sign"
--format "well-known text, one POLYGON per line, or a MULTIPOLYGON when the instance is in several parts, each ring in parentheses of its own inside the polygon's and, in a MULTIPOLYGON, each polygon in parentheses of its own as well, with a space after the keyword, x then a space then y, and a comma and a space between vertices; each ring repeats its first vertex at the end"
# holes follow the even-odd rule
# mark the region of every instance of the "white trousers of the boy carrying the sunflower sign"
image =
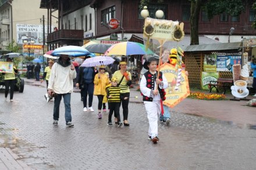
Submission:
POLYGON ((148 122, 150 124, 150 128, 148 128, 148 136, 151 138, 155 138, 158 136, 158 116, 161 114, 161 104, 160 101, 153 102, 144 102, 145 109, 148 115, 148 122))

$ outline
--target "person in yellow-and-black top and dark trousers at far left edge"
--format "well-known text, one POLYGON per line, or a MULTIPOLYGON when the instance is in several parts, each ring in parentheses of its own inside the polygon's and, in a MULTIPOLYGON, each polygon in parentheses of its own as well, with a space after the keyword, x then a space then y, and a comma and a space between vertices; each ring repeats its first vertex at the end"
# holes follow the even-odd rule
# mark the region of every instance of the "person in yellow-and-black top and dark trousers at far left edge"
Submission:
MULTIPOLYGON (((12 62, 12 59, 6 59, 6 62, 12 62)), ((15 86, 15 74, 18 73, 18 70, 15 66, 13 66, 12 73, 3 73, 5 75, 5 101, 7 100, 7 96, 10 88, 10 102, 13 102, 13 92, 15 86)))

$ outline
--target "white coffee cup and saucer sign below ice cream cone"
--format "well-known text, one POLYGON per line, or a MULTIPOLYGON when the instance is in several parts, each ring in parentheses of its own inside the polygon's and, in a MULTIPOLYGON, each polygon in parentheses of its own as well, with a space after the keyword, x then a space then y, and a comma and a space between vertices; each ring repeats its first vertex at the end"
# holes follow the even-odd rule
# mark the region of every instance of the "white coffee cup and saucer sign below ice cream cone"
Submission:
POLYGON ((237 98, 243 98, 249 95, 247 82, 241 79, 234 82, 234 85, 231 86, 231 90, 232 95, 237 98))

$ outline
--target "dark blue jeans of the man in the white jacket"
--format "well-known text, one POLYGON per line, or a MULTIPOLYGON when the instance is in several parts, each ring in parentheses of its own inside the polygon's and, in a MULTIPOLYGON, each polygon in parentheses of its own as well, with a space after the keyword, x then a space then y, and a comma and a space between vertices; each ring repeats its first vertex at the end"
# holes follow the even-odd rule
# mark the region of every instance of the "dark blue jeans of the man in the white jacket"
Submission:
POLYGON ((56 97, 54 99, 54 120, 59 120, 59 104, 61 104, 62 96, 65 104, 65 120, 66 122, 71 122, 72 121, 71 108, 70 108, 71 93, 56 94, 56 97))

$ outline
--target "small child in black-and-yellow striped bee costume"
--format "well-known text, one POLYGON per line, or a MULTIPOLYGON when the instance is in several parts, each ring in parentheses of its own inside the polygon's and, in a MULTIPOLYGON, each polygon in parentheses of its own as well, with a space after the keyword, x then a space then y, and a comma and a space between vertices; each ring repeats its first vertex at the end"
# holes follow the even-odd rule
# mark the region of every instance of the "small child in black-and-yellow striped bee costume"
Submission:
MULTIPOLYGON (((117 118, 117 121, 115 121, 115 124, 118 124, 118 126, 122 126, 122 122, 120 120, 120 91, 121 89, 117 86, 118 85, 118 79, 115 77, 112 77, 111 79, 111 87, 107 89, 107 95, 108 98, 108 108, 109 114, 108 114, 108 126, 112 126, 112 114, 115 113, 115 117, 117 118)), ((128 97, 125 98, 127 100, 128 97)))

